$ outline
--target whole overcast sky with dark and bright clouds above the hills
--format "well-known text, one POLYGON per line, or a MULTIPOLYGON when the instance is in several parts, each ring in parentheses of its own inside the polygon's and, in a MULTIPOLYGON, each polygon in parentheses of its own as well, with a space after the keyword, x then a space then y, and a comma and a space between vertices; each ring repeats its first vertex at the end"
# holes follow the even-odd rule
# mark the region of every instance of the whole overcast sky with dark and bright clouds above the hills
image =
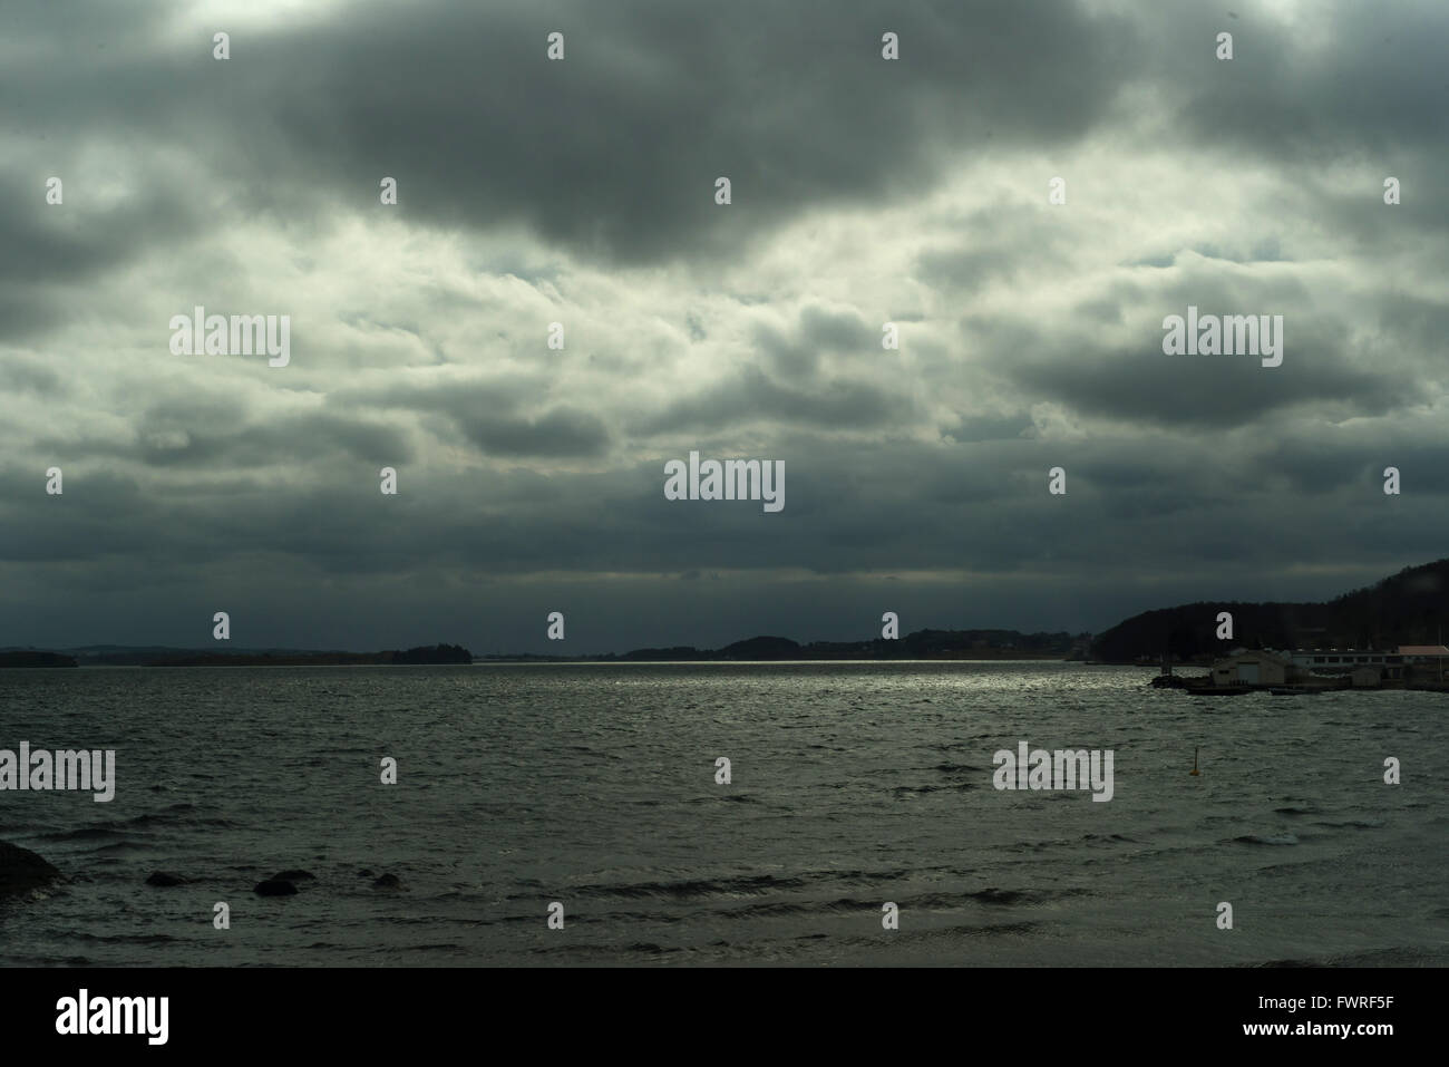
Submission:
POLYGON ((0 645, 1100 631, 1449 555, 1446 55, 1442 0, 7 0, 0 645), (290 364, 174 355, 197 304, 290 364), (1190 304, 1282 365, 1164 355, 1190 304), (691 449, 785 507, 665 500, 691 449))

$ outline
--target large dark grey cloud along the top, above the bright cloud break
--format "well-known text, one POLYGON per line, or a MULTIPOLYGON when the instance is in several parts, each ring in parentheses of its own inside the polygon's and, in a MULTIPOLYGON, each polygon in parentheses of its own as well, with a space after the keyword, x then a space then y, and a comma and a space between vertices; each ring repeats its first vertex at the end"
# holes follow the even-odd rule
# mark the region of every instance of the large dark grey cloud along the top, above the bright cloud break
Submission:
POLYGON ((97 59, 81 52, 93 36, 72 42, 81 65, 0 74, 46 101, 32 128, 206 146, 216 170, 246 177, 252 210, 287 217, 309 193, 375 204, 393 175, 412 219, 522 219, 620 262, 732 252, 807 209, 922 190, 951 146, 1078 141, 1137 52, 1130 23, 1052 0, 638 0, 607 17, 588 4, 359 4, 235 33, 227 62, 200 36, 178 52, 158 35, 164 49, 136 57, 135 32, 126 61, 97 59), (555 29, 567 58, 548 62, 555 29), (909 61, 881 61, 885 29, 909 61), (713 203, 717 175, 733 181, 729 210, 713 203))

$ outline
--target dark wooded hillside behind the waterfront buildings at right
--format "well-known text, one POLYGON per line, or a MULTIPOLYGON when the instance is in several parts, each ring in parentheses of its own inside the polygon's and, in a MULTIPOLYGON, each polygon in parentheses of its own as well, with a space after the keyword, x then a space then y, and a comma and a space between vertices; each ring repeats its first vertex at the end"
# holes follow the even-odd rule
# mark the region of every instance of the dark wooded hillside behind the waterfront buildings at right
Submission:
POLYGON ((1143 612, 1093 642, 1103 663, 1210 660, 1246 648, 1394 648, 1437 645, 1449 616, 1449 560, 1406 567, 1382 581, 1323 603, 1198 602, 1143 612), (1233 638, 1217 638, 1217 613, 1233 638))

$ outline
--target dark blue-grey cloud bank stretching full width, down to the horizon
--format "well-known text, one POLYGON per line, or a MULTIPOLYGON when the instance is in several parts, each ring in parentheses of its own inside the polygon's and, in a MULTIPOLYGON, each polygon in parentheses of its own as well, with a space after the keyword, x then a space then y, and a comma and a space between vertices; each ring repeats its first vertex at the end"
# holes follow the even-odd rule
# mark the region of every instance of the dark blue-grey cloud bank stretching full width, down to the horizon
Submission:
MULTIPOLYGON (((164 605, 154 599, 154 590, 180 577, 190 583, 191 600, 217 603, 222 590, 229 590, 225 606, 235 607, 233 619, 252 626, 270 619, 271 632, 278 626, 291 632, 275 609, 264 605, 283 589, 313 590, 316 596, 323 589, 319 583, 333 576, 349 584, 338 587, 341 599, 307 609, 313 625, 343 602, 375 613, 381 596, 390 607, 414 603, 420 618, 438 619, 454 618, 456 606, 485 596, 490 610, 484 616, 497 622, 481 631, 490 636, 480 647, 539 651, 546 648, 542 638, 519 634, 516 607, 538 613, 545 606, 565 605, 571 612, 577 606, 578 622, 597 635, 591 648, 661 638, 703 642, 700 634, 714 634, 713 626, 703 625, 704 616, 720 607, 724 610, 719 618, 729 620, 726 632, 716 635, 722 639, 787 620, 800 636, 861 636, 868 626, 859 619, 826 619, 782 607, 784 590, 794 586, 778 578, 764 586, 749 578, 724 583, 732 596, 753 589, 753 612, 729 609, 704 590, 693 594, 691 603, 672 605, 667 619, 658 615, 661 594, 651 584, 614 583, 600 586, 596 594, 590 591, 593 580, 584 574, 567 584, 540 581, 529 596, 522 589, 484 593, 488 586, 480 581, 549 571, 571 560, 662 576, 690 570, 739 574, 768 560, 769 567, 832 577, 829 587, 803 587, 790 596, 804 597, 803 603, 843 597, 869 619, 878 618, 880 593, 872 594, 871 580, 852 573, 888 576, 965 567, 978 574, 969 586, 978 590, 974 596, 962 597, 955 583, 911 581, 893 593, 887 606, 919 603, 926 615, 913 616, 913 625, 1030 628, 1048 619, 1056 625, 1080 620, 1104 626, 1116 618, 1098 620, 1095 613, 1124 615, 1142 607, 1107 577, 1122 568, 1129 568, 1136 583, 1148 583, 1143 589, 1175 583, 1175 590, 1190 589, 1181 574, 1184 567, 1216 565, 1213 594, 1265 596, 1265 590, 1288 587, 1281 578, 1265 587, 1259 577, 1264 568, 1281 570, 1287 529, 1382 535, 1385 539, 1374 541, 1361 558, 1382 560, 1379 568, 1388 571, 1404 554, 1419 558, 1432 552, 1435 523, 1449 518, 1442 497, 1385 503, 1382 494, 1365 496, 1358 486, 1321 499, 1284 497, 1264 477, 1250 449, 1233 442, 1220 447, 1216 457, 1213 474, 1226 490, 1217 497, 1204 493, 1201 457, 1191 442, 1164 435, 1139 448, 1155 457, 1153 478, 1148 481, 1133 474, 1139 457, 1093 442, 903 447, 882 452, 822 447, 801 438, 784 442, 784 454, 791 457, 793 496, 781 516, 764 516, 751 502, 710 513, 665 502, 653 491, 661 481, 661 465, 655 462, 603 477, 514 473, 478 480, 404 470, 403 496, 387 500, 388 510, 380 510, 383 499, 372 471, 359 471, 348 486, 209 478, 204 489, 197 487, 200 491, 159 497, 125 480, 80 477, 68 486, 84 493, 81 506, 74 499, 46 499, 32 473, 7 471, 0 476, 0 493, 7 502, 0 518, 9 532, 9 560, 71 560, 71 578, 58 578, 64 586, 77 573, 90 574, 84 586, 91 590, 87 603, 128 583, 143 590, 132 615, 138 623, 154 619, 155 626, 177 625, 162 618, 164 605), (1066 462, 1071 470, 1066 497, 1046 493, 1052 462, 1066 462), (1129 523, 1130 534, 1122 523, 1129 523), (97 544, 125 554, 129 577, 119 586, 120 574, 106 568, 107 557, 97 557, 97 544), (258 558, 256 552, 264 555, 258 558), (426 561, 425 571, 419 571, 420 561, 426 561), (432 590, 426 603, 404 591, 407 587, 384 593, 407 574, 433 576, 426 578, 432 590), (439 574, 449 576, 445 586, 436 584, 439 574), (1037 584, 1043 587, 1040 597, 1033 591, 1037 584), (939 597, 943 589, 958 590, 953 607, 939 597), (371 590, 371 602, 365 590, 371 590), (862 594, 865 606, 877 605, 874 616, 859 610, 862 594), (1078 597, 1085 602, 1072 606, 1078 597), (504 605, 509 615, 500 616, 504 605), (1027 613, 1020 615, 1023 610, 1027 613), (651 629, 642 626, 645 619, 658 622, 651 629), (600 631, 601 625, 606 629, 600 631)), ((1339 562, 1337 538, 1297 536, 1293 557, 1295 564, 1339 562)), ((52 584, 52 596, 57 589, 52 584)), ((458 619, 455 625, 462 625, 462 616, 458 619)), ((356 623, 333 625, 342 629, 329 634, 368 632, 348 629, 356 623)), ((475 618, 464 625, 464 634, 478 635, 481 625, 483 618, 475 618)))

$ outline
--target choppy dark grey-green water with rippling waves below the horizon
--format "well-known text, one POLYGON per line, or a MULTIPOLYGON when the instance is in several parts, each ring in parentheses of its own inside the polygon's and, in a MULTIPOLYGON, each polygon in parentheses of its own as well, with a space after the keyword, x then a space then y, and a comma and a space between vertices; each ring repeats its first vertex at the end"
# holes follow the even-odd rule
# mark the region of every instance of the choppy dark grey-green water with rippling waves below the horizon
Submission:
POLYGON ((0 838, 71 876, 0 905, 0 961, 1449 961, 1443 696, 1200 699, 1149 677, 1055 663, 6 670, 0 748, 116 748, 119 787, 112 803, 0 793, 0 838), (1113 800, 993 789, 993 754, 1019 741, 1114 750, 1113 800), (380 783, 385 755, 397 786, 380 783), (284 868, 317 880, 254 894, 284 868), (143 884, 154 870, 191 881, 143 884), (212 926, 219 900, 229 931, 212 926), (897 932, 881 928, 887 900, 897 932))

